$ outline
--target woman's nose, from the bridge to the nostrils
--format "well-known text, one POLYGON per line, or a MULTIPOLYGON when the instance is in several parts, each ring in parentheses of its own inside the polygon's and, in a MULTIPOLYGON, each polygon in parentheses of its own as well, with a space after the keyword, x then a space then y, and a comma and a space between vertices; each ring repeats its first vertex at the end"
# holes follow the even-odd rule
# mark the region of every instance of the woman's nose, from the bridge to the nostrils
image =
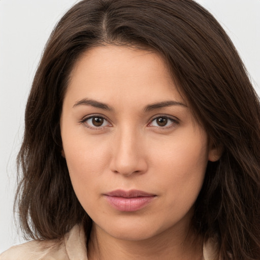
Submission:
POLYGON ((124 176, 147 171, 144 140, 134 129, 118 131, 114 137, 110 170, 124 176))

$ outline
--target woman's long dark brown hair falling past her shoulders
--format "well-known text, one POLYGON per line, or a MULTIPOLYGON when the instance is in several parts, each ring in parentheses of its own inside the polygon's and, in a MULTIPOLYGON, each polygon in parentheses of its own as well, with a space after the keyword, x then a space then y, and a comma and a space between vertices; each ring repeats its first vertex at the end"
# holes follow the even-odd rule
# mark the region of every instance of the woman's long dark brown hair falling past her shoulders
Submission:
POLYGON ((70 72, 85 50, 102 44, 148 46, 163 55, 173 79, 211 142, 192 225, 217 237, 219 255, 259 259, 260 106, 243 63, 215 18, 192 0, 88 0, 58 22, 29 94, 18 165, 17 206, 34 239, 61 238, 91 219, 74 193, 61 156, 59 118, 70 72))

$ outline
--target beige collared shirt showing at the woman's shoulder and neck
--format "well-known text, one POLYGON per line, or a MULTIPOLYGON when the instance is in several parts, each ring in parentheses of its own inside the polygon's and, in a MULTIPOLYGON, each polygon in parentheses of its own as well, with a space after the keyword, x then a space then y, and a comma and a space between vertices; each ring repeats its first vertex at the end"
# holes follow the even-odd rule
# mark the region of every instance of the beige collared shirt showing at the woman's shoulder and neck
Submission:
MULTIPOLYGON (((216 260, 213 240, 203 245, 202 260, 216 260)), ((87 260, 85 232, 75 225, 61 241, 30 241, 13 246, 0 255, 0 260, 87 260)))

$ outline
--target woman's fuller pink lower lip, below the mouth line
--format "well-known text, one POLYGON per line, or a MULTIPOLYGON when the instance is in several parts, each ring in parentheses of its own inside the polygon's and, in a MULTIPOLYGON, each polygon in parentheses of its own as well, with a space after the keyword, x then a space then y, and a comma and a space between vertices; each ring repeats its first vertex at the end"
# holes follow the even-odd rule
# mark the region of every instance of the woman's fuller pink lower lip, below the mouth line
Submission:
POLYGON ((106 195, 107 201, 114 209, 125 212, 140 210, 149 204, 154 198, 155 196, 124 198, 106 195))

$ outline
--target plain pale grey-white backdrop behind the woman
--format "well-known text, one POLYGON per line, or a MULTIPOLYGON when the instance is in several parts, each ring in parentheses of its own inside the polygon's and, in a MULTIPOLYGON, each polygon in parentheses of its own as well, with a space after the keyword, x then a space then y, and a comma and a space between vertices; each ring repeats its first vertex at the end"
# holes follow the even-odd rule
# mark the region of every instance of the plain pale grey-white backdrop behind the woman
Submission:
MULTIPOLYGON (((0 0, 0 252, 24 242, 13 215, 15 160, 23 136, 24 107, 51 30, 76 2, 0 0)), ((259 94, 260 0, 198 2, 228 32, 259 94)))

